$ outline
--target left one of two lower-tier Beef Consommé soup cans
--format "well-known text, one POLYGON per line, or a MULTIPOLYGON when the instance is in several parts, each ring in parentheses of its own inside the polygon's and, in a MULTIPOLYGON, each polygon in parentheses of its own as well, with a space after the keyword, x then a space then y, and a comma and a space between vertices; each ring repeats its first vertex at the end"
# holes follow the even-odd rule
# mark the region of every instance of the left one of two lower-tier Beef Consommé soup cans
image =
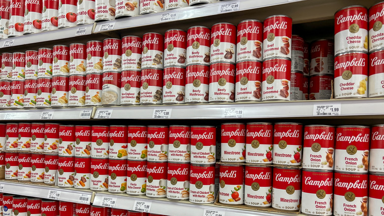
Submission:
POLYGON ((261 62, 236 64, 235 101, 261 101, 261 62))

